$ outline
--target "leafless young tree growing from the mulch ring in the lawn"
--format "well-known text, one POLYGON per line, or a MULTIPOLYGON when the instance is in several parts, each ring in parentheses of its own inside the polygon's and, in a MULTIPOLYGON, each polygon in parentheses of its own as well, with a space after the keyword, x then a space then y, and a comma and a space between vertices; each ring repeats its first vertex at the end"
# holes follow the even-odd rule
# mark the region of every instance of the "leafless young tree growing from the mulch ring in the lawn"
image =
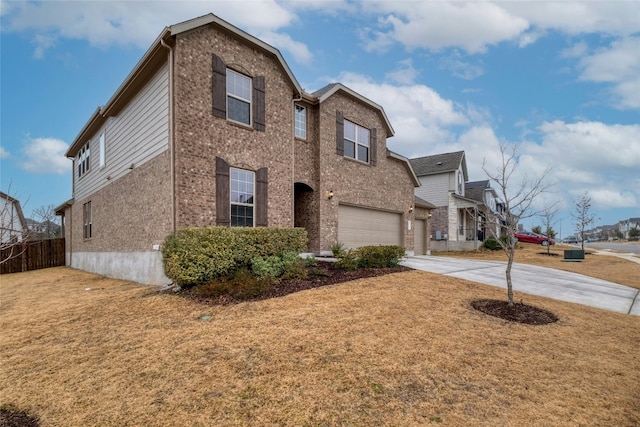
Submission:
POLYGON ((550 171, 546 169, 540 177, 535 179, 529 179, 525 175, 522 180, 514 183, 515 178, 513 175, 518 167, 519 159, 518 149, 519 144, 508 145, 501 143, 501 163, 496 169, 489 170, 486 159, 482 165, 482 170, 487 174, 489 179, 497 185, 497 191, 504 202, 504 222, 502 224, 504 238, 494 237, 508 259, 505 276, 507 279, 507 302, 509 306, 513 306, 511 267, 513 266, 513 258, 517 245, 517 240, 513 234, 516 232, 518 222, 537 214, 537 212, 533 210, 533 201, 541 193, 547 191, 544 180, 550 171))

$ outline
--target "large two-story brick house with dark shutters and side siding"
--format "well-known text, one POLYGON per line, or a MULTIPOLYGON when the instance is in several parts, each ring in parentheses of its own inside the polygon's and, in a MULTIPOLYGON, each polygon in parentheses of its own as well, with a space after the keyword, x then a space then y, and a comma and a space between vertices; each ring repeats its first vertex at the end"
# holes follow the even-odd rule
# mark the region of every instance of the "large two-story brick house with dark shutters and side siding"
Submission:
POLYGON ((305 92, 277 49, 217 16, 172 25, 66 153, 67 263, 167 283, 165 237, 216 225, 304 227, 314 253, 411 253, 428 207, 393 134, 380 105, 338 83, 305 92))

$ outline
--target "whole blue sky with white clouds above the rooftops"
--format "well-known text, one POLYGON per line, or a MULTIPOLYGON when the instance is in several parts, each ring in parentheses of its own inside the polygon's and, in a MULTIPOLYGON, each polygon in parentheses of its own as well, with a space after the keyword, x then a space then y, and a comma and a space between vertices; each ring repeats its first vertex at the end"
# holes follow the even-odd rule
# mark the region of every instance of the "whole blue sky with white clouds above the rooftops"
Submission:
MULTIPOLYGON (((640 217, 640 0, 1 2, 2 191, 71 197, 68 145, 165 26, 214 13, 277 47, 308 92, 341 82, 382 105, 390 149, 465 150, 514 185, 549 168, 556 230, 585 191, 596 225, 640 217)), ((532 218, 525 226, 540 224, 532 218)))

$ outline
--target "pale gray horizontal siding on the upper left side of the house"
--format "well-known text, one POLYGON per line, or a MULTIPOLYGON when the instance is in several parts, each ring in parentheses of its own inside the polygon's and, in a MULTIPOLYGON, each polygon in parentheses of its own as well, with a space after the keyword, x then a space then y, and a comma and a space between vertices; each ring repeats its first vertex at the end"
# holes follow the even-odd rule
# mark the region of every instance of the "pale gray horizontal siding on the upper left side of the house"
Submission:
POLYGON ((82 200, 169 149, 169 68, 149 83, 90 141, 90 167, 82 177, 74 162, 74 198, 82 200), (100 167, 100 134, 105 134, 105 166, 100 167))

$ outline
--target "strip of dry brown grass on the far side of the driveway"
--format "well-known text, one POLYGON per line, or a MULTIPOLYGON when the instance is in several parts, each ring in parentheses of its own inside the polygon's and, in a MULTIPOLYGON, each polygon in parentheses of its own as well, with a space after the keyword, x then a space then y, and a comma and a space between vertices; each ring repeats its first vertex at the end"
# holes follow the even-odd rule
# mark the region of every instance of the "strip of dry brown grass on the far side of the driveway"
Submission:
MULTIPOLYGON (((548 256, 544 255, 547 253, 547 248, 544 246, 521 243, 518 245, 518 249, 516 249, 514 262, 571 271, 573 273, 597 277, 599 279, 640 289, 640 264, 610 255, 596 255, 589 249, 586 249, 584 261, 563 261, 564 250, 570 248, 571 247, 568 245, 553 245, 549 250, 552 256, 548 256)), ((480 260, 507 260, 507 255, 502 250, 480 250, 477 252, 433 252, 433 255, 480 260)))

